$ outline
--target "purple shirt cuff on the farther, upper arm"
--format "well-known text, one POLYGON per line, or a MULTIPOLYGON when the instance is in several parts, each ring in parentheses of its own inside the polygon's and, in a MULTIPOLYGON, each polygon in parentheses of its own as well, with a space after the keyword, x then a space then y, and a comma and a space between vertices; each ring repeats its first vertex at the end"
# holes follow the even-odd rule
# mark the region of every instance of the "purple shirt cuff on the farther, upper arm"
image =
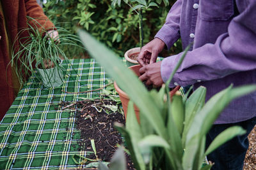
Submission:
POLYGON ((171 46, 179 39, 180 35, 178 32, 174 31, 168 25, 163 25, 161 29, 157 32, 155 38, 159 38, 164 41, 168 50, 170 50, 171 46))

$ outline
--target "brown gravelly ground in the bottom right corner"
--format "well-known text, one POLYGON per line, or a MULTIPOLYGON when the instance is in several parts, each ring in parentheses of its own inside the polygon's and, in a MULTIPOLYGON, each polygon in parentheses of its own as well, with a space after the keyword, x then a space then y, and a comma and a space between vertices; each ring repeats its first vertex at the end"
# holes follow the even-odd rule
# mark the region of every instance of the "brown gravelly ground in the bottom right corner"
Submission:
POLYGON ((244 170, 256 169, 256 126, 248 136, 249 149, 244 159, 244 170))

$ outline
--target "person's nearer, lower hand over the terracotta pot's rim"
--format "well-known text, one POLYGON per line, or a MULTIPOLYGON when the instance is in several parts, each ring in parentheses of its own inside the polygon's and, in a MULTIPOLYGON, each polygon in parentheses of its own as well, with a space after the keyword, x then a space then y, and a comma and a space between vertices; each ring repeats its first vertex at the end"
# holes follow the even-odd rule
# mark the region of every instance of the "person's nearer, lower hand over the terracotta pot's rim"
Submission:
POLYGON ((157 87, 163 85, 164 81, 161 77, 161 63, 162 61, 145 65, 140 68, 141 81, 146 81, 146 85, 156 85, 157 87))

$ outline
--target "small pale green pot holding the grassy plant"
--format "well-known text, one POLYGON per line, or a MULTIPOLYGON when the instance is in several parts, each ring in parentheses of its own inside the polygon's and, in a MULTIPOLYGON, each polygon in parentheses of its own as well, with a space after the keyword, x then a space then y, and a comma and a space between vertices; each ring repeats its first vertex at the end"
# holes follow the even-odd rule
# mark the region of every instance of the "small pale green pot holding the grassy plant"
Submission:
MULTIPOLYGON (((61 65, 63 60, 60 61, 61 65)), ((53 67, 51 69, 40 69, 38 65, 40 62, 36 63, 36 69, 40 74, 41 80, 46 87, 58 87, 63 83, 63 71, 60 67, 53 67)))

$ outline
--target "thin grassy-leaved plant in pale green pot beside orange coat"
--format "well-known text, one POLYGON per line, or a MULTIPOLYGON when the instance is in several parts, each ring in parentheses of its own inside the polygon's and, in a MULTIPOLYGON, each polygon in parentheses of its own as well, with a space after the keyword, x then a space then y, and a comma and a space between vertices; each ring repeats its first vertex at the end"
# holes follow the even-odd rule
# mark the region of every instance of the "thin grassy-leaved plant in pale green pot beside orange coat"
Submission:
POLYGON ((55 81, 58 76, 61 79, 64 71, 61 62, 62 60, 67 62, 68 59, 63 48, 77 46, 79 39, 61 27, 45 29, 44 25, 28 17, 28 28, 22 29, 15 41, 19 43, 19 46, 12 50, 10 65, 15 68, 20 85, 23 85, 26 78, 32 74, 46 82, 47 86, 54 86, 51 79, 55 81), (51 38, 48 31, 55 29, 58 30, 59 35, 57 38, 51 38), (23 34, 28 34, 28 36, 23 36, 23 34), (35 65, 39 72, 42 70, 40 75, 36 74, 35 65))

